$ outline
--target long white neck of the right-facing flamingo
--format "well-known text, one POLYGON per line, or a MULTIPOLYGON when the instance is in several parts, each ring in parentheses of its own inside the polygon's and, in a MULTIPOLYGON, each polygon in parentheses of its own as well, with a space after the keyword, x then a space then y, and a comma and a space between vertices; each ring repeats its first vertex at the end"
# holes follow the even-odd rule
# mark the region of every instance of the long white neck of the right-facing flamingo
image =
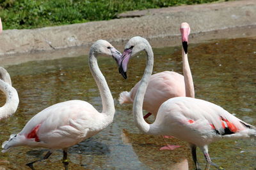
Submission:
POLYGON ((106 113, 108 116, 113 118, 115 114, 114 100, 109 90, 108 83, 99 69, 94 52, 90 52, 89 66, 92 76, 100 91, 100 97, 102 99, 102 113, 106 113))

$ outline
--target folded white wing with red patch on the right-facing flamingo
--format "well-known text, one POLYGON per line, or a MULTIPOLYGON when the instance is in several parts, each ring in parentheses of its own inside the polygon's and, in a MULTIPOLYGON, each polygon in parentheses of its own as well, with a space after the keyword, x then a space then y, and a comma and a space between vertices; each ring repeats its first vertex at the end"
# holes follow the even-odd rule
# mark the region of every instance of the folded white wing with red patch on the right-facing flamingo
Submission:
POLYGON ((74 100, 54 104, 31 118, 19 135, 44 143, 58 143, 63 138, 77 141, 85 138, 86 131, 92 127, 91 122, 95 118, 93 114, 88 114, 92 112, 98 113, 85 101, 74 100))

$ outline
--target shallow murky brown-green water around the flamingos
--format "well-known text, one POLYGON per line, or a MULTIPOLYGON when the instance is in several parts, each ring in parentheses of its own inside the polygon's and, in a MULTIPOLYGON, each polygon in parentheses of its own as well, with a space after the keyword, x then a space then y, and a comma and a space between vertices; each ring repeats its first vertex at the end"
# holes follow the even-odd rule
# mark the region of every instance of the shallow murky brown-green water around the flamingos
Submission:
MULTIPOLYGON (((255 46, 255 39, 220 40, 189 46, 196 97, 219 104, 253 125, 256 125, 255 46)), ((180 47, 157 48, 154 54, 155 72, 173 70, 181 73, 180 47)), ((99 66, 115 98, 115 119, 104 131, 70 148, 70 169, 193 169, 186 143, 175 138, 166 139, 168 143, 182 147, 159 151, 164 145, 163 138, 141 134, 134 127, 132 105, 121 107, 117 103, 118 94, 130 90, 140 80, 145 67, 144 55, 141 53, 140 57, 133 57, 129 62, 127 80, 118 73, 114 60, 99 57, 99 66)), ((20 104, 15 115, 0 122, 1 143, 10 134, 19 132, 33 115, 61 101, 81 99, 101 110, 99 91, 90 74, 87 56, 27 62, 6 69, 11 74, 13 87, 19 92, 20 104)), ((3 94, 0 97, 3 104, 3 94)), ((25 147, 0 153, 0 169, 28 169, 26 163, 45 153, 45 149, 25 147)), ((253 139, 213 143, 209 153, 212 160, 225 169, 256 168, 253 139)), ((198 157, 204 167, 205 160, 199 150, 198 157)), ((50 159, 35 164, 35 168, 62 169, 61 159, 60 150, 50 159)))

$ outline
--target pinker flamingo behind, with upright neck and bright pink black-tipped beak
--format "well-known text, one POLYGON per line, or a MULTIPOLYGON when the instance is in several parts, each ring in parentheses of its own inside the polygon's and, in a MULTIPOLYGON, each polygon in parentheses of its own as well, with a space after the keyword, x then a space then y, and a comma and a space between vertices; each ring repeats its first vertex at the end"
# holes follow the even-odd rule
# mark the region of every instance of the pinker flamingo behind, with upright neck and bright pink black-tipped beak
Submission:
MULTIPOLYGON (((188 23, 180 24, 180 33, 184 76, 174 71, 163 71, 150 76, 143 101, 143 110, 148 111, 144 118, 148 118, 151 114, 156 117, 159 106, 172 97, 195 97, 193 78, 188 62, 188 36, 190 33, 188 23)), ((119 103, 133 103, 139 85, 140 81, 134 85, 130 92, 121 92, 118 99, 119 103)))

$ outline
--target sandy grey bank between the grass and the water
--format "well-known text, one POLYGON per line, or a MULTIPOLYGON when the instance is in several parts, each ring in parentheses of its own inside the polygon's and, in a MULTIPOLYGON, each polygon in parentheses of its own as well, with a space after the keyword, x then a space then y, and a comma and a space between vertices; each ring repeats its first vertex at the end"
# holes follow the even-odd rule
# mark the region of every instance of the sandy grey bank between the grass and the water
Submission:
POLYGON ((122 18, 108 21, 6 30, 0 36, 0 62, 3 66, 42 57, 81 55, 97 39, 122 46, 132 36, 143 36, 153 47, 178 45, 181 22, 188 22, 191 26, 191 43, 256 36, 255 11, 255 0, 230 1, 130 11, 121 14, 122 18), (75 46, 77 48, 70 48, 75 46), (42 55, 41 52, 47 53, 42 55))

